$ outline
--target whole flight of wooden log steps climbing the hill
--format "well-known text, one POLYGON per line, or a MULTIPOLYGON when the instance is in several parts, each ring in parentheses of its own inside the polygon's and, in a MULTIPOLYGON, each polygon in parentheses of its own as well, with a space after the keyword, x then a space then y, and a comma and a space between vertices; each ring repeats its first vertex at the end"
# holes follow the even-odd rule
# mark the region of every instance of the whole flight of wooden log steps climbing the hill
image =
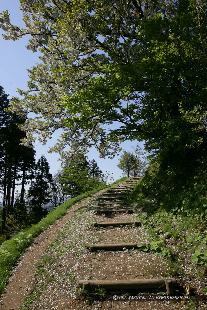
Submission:
MULTIPOLYGON (((133 213, 133 209, 125 203, 125 195, 131 192, 134 185, 141 178, 130 178, 124 183, 110 188, 107 192, 100 195, 97 199, 98 207, 95 210, 96 214, 102 214, 103 216, 107 214, 119 214, 119 213, 133 213)), ((94 222, 91 224, 92 227, 119 227, 119 226, 140 226, 141 223, 138 221, 115 221, 115 222, 94 222)), ((137 249, 139 240, 133 243, 126 243, 120 240, 119 243, 101 243, 101 244, 88 244, 87 249, 89 251, 105 250, 105 251, 117 251, 126 249, 137 249)), ((149 243, 143 243, 149 245, 149 243)), ((78 283, 79 286, 83 287, 83 290, 89 290, 90 287, 104 287, 106 290, 139 290, 139 289, 158 289, 163 288, 167 290, 167 294, 172 295, 174 293, 174 287, 177 286, 177 282, 174 278, 164 278, 164 279, 112 279, 112 280, 81 280, 78 283)))

